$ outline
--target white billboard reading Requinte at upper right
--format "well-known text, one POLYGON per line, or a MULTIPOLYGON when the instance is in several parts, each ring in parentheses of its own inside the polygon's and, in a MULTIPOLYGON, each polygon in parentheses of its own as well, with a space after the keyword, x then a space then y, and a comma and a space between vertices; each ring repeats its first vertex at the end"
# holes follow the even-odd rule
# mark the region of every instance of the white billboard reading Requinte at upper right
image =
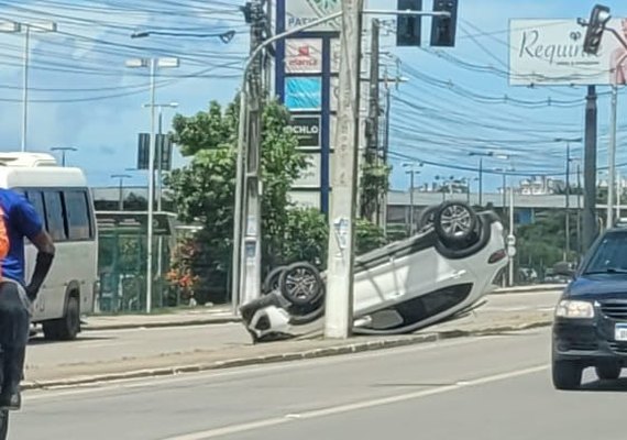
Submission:
MULTIPOLYGON (((627 35, 627 19, 613 19, 608 26, 627 35)), ((598 54, 585 54, 585 31, 576 19, 510 20, 509 84, 626 84, 627 51, 612 33, 605 32, 598 54)))

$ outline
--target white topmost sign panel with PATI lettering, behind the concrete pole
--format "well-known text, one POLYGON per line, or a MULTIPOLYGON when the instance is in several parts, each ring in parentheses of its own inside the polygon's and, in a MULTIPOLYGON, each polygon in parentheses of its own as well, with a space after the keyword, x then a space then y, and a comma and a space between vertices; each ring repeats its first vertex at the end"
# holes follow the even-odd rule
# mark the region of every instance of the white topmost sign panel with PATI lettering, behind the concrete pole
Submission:
MULTIPOLYGON (((285 0, 285 30, 311 23, 322 16, 340 12, 341 0, 285 0)), ((342 19, 328 21, 307 30, 307 32, 339 32, 342 19)))

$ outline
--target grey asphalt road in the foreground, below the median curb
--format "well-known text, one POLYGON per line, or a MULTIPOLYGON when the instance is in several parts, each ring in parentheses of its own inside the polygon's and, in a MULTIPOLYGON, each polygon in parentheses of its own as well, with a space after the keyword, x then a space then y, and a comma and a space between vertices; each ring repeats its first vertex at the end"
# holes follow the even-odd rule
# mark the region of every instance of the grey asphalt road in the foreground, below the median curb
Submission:
POLYGON ((624 438, 624 383, 556 392, 547 329, 286 364, 32 392, 20 440, 624 438))

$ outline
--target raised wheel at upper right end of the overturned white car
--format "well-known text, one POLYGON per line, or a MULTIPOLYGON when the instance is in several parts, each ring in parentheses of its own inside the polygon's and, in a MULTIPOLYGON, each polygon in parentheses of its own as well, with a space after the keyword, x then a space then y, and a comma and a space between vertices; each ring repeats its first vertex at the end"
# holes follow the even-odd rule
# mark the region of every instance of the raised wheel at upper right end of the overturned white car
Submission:
POLYGON ((476 226, 476 213, 470 205, 454 200, 440 205, 433 223, 440 240, 450 244, 468 242, 475 233, 476 226))

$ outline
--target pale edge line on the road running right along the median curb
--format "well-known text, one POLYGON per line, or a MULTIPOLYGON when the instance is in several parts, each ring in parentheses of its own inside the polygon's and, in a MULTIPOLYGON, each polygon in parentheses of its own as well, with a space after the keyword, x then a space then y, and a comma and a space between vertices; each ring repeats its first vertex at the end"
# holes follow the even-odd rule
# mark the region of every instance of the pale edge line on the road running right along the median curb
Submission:
MULTIPOLYGON (((521 332, 526 333, 526 332, 521 332)), ((425 344, 416 344, 409 345, 404 348, 397 349, 386 349, 386 350, 375 350, 370 352, 361 352, 354 353, 350 355, 337 355, 337 356, 328 356, 328 358, 318 358, 318 359, 309 359, 302 361, 292 361, 292 362, 282 362, 277 364, 258 364, 258 365, 250 365, 250 366, 242 366, 242 367, 233 367, 229 369, 229 371, 207 371, 200 373, 184 373, 179 376, 161 376, 160 378, 147 377, 147 378, 129 378, 129 380, 119 380, 119 381, 110 381, 110 382, 101 382, 101 383, 92 383, 92 384, 84 384, 84 385, 68 385, 68 386, 58 386, 50 389, 33 389, 25 392, 25 397, 29 402, 36 402, 36 400, 47 400, 54 399, 57 397, 66 397, 66 396, 79 396, 85 394, 97 394, 97 393, 108 393, 113 391, 125 391, 131 388, 151 388, 154 386, 164 386, 164 385, 172 385, 172 384, 180 384, 180 383, 194 383, 194 382, 201 382, 201 381, 213 381, 220 380, 226 377, 233 377, 233 376, 245 376, 245 375, 256 375, 260 373, 272 373, 276 371, 283 371, 288 369, 294 369, 294 362, 299 362, 300 365, 314 367, 314 366, 321 366, 321 365, 334 365, 340 363, 349 363, 349 362, 358 362, 364 359, 375 359, 375 358, 388 358, 392 355, 397 354, 406 354, 413 352, 421 352, 421 351, 429 351, 435 349, 448 349, 448 348, 455 348, 460 345, 470 345, 483 342, 490 342, 496 340, 498 337, 483 337, 483 338, 472 338, 469 337, 468 339, 458 339, 458 340, 444 340, 444 341, 437 341, 437 342, 428 342, 425 344)))

